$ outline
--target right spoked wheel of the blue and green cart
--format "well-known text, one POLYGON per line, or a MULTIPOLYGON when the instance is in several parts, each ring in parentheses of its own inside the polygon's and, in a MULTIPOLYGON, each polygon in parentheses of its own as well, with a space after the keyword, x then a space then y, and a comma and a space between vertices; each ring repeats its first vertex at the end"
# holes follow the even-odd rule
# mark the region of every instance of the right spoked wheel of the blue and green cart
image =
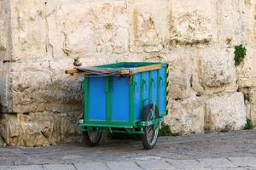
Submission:
MULTIPOLYGON (((143 109, 143 121, 148 122, 154 120, 154 118, 159 118, 159 111, 156 106, 150 104, 143 109), (155 108, 154 108, 155 107, 155 108)), ((156 141, 158 139, 159 124, 154 128, 154 125, 144 127, 144 134, 142 135, 143 146, 145 150, 150 150, 154 148, 156 141)))

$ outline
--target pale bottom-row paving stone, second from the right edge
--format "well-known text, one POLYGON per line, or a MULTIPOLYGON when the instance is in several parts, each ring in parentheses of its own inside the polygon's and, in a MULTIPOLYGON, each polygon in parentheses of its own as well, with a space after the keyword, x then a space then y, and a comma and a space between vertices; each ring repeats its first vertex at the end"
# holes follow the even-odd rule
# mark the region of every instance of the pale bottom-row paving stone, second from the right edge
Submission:
POLYGON ((201 165, 203 167, 236 167, 231 161, 226 158, 207 158, 200 159, 201 165))

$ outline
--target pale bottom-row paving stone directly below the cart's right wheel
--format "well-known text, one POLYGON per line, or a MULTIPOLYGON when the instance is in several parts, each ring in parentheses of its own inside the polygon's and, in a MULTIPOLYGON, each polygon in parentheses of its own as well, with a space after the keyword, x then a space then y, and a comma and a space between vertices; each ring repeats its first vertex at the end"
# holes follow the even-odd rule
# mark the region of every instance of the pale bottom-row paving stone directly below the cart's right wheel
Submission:
POLYGON ((137 164, 147 170, 175 169, 175 167, 162 160, 137 161, 137 164))

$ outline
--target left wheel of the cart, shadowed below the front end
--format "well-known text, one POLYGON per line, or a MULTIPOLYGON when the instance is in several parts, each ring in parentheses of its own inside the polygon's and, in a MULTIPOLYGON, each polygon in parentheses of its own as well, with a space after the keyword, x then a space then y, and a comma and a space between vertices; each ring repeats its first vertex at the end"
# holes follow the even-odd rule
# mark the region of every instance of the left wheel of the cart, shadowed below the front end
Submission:
POLYGON ((97 129, 101 129, 102 127, 97 127, 95 131, 84 131, 84 142, 90 147, 96 146, 102 139, 102 132, 97 131, 97 129))

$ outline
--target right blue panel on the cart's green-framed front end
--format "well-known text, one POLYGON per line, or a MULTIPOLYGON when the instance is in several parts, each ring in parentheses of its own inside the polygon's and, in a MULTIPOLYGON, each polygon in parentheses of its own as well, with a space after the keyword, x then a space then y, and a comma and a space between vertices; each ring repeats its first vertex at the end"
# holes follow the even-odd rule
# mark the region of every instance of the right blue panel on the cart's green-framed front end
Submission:
POLYGON ((129 122, 129 77, 112 77, 112 120, 129 122))

